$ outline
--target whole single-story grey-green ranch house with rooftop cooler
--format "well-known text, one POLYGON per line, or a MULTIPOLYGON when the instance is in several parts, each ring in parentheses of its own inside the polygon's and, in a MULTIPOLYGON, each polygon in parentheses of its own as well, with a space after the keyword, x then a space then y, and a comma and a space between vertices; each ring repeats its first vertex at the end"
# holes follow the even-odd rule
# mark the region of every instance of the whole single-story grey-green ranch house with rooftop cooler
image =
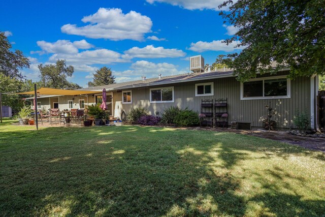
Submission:
MULTIPOLYGON (((127 114, 132 107, 145 107, 152 115, 160 115, 171 106, 189 108, 205 113, 207 122, 221 113, 228 114, 231 121, 241 123, 244 128, 262 129, 268 108, 272 108, 271 120, 275 128, 296 128, 293 119, 297 112, 308 112, 311 128, 317 127, 316 96, 318 76, 286 78, 288 69, 277 75, 258 75, 241 83, 231 70, 211 71, 203 68, 204 59, 190 58, 192 73, 129 81, 82 88, 94 94, 75 96, 40 96, 39 109, 59 108, 85 109, 88 105, 101 102, 102 90, 106 89, 107 107, 111 116, 120 117, 121 111, 127 114), (204 105, 207 104, 207 105, 204 105)), ((27 98, 32 99, 32 98, 27 98)))

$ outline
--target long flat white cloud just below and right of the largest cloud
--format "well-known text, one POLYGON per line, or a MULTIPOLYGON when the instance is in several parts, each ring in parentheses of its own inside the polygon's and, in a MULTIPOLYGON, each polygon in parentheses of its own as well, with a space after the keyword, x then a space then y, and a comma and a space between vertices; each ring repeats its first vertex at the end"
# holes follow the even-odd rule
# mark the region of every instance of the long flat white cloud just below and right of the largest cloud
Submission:
POLYGON ((164 58, 164 57, 181 57, 185 56, 182 50, 178 49, 166 49, 164 47, 154 47, 153 45, 147 45, 144 48, 133 47, 124 51, 123 58, 164 58))

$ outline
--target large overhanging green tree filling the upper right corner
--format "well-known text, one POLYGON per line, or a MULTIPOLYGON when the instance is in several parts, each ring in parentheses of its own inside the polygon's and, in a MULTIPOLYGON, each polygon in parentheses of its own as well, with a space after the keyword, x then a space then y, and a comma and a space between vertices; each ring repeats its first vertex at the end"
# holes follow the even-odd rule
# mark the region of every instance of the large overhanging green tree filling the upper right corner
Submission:
POLYGON ((224 63, 238 80, 256 73, 290 69, 289 77, 325 74, 325 2, 318 0, 226 0, 219 8, 225 22, 239 30, 226 44, 239 40, 241 53, 224 63))

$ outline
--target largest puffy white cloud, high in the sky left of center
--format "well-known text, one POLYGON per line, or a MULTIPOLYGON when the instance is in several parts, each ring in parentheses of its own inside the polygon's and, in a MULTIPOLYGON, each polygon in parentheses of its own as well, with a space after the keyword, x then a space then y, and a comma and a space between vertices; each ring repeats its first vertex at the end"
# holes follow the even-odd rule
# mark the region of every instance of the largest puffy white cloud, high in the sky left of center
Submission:
POLYGON ((100 8, 96 13, 85 16, 82 21, 90 24, 81 27, 76 24, 66 24, 61 27, 61 32, 92 39, 142 41, 144 34, 151 33, 152 26, 149 17, 135 11, 123 14, 118 8, 100 8))

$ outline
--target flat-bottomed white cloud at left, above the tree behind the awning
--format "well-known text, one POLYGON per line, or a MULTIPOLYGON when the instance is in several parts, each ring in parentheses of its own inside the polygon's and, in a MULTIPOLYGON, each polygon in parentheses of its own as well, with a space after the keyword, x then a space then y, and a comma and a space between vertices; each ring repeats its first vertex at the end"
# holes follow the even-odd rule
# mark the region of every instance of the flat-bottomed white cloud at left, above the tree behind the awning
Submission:
POLYGON ((79 49, 89 49, 93 47, 92 44, 86 42, 86 40, 74 41, 69 40, 57 40, 56 42, 38 41, 37 45, 42 51, 32 51, 31 53, 78 53, 79 49))

